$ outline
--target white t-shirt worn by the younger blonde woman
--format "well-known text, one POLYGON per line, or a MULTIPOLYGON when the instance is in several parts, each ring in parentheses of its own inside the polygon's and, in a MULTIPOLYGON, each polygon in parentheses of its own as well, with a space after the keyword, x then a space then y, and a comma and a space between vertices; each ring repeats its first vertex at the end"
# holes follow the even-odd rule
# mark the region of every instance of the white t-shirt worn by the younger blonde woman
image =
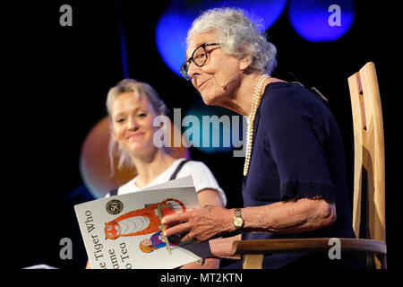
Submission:
MULTIPOLYGON (((164 182, 167 182, 171 175, 174 173, 176 170, 176 167, 179 165, 181 161, 184 161, 185 159, 178 159, 174 161, 167 170, 162 172, 157 178, 154 178, 147 186, 145 187, 151 187, 155 186, 164 182)), ((187 176, 192 176, 193 178, 193 184, 194 187, 196 187, 196 192, 199 192, 203 189, 209 188, 209 189, 215 189, 219 192, 219 196, 221 196, 222 202, 224 203, 224 206, 227 205, 227 197, 222 190, 221 187, 219 187, 219 183, 217 182, 216 178, 214 178, 212 172, 210 169, 201 161, 188 161, 184 164, 181 170, 176 175, 176 178, 184 178, 187 176)), ((119 187, 117 189, 117 194, 118 195, 125 195, 131 192, 136 192, 140 191, 144 187, 137 187, 135 185, 137 177, 133 178, 132 180, 129 180, 126 182, 124 185, 119 187)), ((107 196, 109 196, 107 194, 107 196)))

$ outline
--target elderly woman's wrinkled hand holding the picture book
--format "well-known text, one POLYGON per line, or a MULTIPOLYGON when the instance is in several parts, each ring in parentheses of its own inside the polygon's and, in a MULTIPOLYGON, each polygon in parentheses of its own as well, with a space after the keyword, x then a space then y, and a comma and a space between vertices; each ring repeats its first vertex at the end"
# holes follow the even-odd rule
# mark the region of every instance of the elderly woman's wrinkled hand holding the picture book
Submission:
POLYGON ((207 205, 185 213, 167 215, 162 219, 162 223, 172 225, 180 222, 168 228, 164 233, 165 236, 184 234, 182 242, 203 242, 234 231, 233 218, 234 211, 207 205))

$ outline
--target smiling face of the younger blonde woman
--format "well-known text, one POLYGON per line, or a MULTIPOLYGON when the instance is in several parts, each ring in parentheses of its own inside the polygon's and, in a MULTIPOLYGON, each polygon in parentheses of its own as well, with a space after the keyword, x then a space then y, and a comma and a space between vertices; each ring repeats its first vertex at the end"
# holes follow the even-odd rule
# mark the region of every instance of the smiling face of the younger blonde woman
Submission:
POLYGON ((114 140, 130 153, 141 153, 154 147, 157 127, 152 125, 155 111, 146 96, 139 100, 132 91, 116 97, 112 105, 114 140))

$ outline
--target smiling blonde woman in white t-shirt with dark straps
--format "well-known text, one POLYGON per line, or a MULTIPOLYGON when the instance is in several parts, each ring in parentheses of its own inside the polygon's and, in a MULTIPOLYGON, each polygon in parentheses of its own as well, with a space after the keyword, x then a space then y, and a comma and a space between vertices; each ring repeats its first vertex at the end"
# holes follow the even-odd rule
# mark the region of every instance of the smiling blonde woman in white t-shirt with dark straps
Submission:
MULTIPOLYGON (((161 126, 154 118, 167 114, 167 107, 148 84, 125 79, 107 93, 107 112, 111 130, 109 158, 119 168, 137 170, 137 176, 107 196, 124 195, 191 175, 201 206, 225 206, 227 198, 210 169, 201 161, 176 159, 165 146, 157 147, 154 137, 161 126)), ((87 265, 89 268, 90 265, 87 265)), ((210 258, 182 268, 219 268, 219 259, 210 258)))

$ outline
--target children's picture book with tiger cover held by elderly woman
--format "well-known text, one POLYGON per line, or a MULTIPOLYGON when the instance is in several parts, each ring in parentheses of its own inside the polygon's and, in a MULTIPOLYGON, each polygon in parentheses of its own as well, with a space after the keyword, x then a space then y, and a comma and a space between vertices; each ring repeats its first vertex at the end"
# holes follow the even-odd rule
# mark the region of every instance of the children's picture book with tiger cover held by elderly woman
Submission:
POLYGON ((209 257, 208 242, 163 236, 164 216, 196 208, 191 176, 74 206, 93 269, 170 269, 209 257))

